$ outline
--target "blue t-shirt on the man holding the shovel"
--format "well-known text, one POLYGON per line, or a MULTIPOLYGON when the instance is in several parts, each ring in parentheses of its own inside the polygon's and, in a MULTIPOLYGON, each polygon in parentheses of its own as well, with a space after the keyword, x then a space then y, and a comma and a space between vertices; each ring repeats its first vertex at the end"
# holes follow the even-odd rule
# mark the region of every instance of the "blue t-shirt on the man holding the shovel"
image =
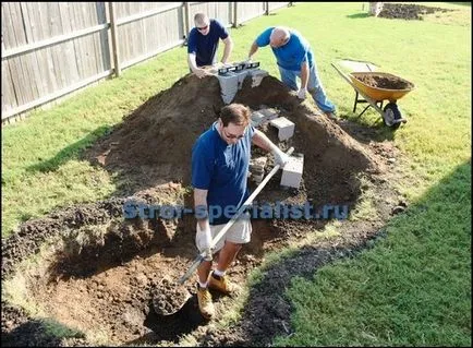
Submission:
POLYGON ((203 133, 192 148, 192 185, 208 190, 207 205, 210 225, 221 225, 248 197, 246 181, 250 168, 252 137, 255 129, 250 124, 244 136, 228 145, 217 131, 217 122, 203 133), (226 206, 228 215, 225 216, 226 206), (215 214, 220 209, 222 214, 215 214))

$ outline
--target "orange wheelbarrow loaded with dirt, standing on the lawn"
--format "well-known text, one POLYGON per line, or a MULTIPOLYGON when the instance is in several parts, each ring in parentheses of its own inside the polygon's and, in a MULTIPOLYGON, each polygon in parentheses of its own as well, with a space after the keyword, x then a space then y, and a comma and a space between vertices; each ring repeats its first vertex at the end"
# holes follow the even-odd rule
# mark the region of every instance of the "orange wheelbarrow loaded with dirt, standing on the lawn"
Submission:
POLYGON ((408 122, 405 118, 402 117, 401 110, 398 107, 398 99, 405 96, 409 92, 415 88, 414 84, 399 77, 395 74, 386 72, 377 72, 376 65, 360 62, 360 61, 342 61, 344 67, 355 69, 350 73, 343 72, 337 64, 331 63, 331 65, 337 70, 337 72, 354 88, 355 100, 353 106, 353 112, 356 112, 357 104, 368 103, 368 106, 359 115, 362 116, 369 107, 373 107, 378 111, 383 118, 384 123, 391 129, 398 129, 401 123, 408 122), (375 82, 367 83, 368 81, 375 82), (396 86, 385 85, 386 82, 395 82, 396 86), (360 98, 362 96, 363 98, 360 98), (389 103, 383 108, 385 100, 389 103))

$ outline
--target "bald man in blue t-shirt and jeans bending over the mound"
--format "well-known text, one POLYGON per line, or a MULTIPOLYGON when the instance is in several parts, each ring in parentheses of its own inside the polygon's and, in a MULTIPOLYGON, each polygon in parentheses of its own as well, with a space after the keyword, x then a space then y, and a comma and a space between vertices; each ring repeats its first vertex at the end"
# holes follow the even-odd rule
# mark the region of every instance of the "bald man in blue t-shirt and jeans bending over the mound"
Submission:
POLYGON ((276 56, 282 83, 293 91, 299 89, 298 97, 300 99, 305 99, 308 91, 316 105, 329 117, 333 117, 336 107, 325 94, 308 41, 294 29, 279 26, 269 27, 252 44, 248 60, 252 59, 259 47, 267 45, 271 46, 276 56), (298 76, 301 79, 299 88, 296 84, 298 76))

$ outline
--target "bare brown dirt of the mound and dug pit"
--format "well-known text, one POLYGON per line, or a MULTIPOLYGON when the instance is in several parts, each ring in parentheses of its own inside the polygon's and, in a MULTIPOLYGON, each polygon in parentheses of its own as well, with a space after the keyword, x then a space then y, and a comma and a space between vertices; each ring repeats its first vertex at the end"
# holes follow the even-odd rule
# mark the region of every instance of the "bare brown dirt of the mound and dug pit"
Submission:
MULTIPOLYGON (((392 144, 359 142, 356 135, 365 130, 328 119, 272 76, 257 87, 245 80, 235 101, 254 110, 271 107, 294 122, 294 136, 286 142, 279 142, 276 129, 267 123, 260 130, 282 149, 294 146, 304 155, 300 189, 281 189, 278 172, 257 196, 258 204, 310 202, 317 211, 331 205, 356 212, 365 200, 362 193, 375 190, 369 218, 340 220, 333 236, 324 230, 333 223, 329 218, 253 219, 252 240, 229 271, 243 287, 269 252, 310 236, 313 240, 267 268, 243 305, 214 293, 217 314, 210 322, 198 312, 195 278, 179 289, 183 300, 191 293, 182 309, 158 315, 156 301, 167 301, 170 310, 179 305, 172 280, 185 273, 197 253, 194 216, 169 216, 169 212, 165 216, 159 207, 192 207, 192 145, 222 107, 216 77, 186 75, 84 154, 84 159, 117 177, 121 187, 116 196, 28 220, 2 241, 2 345, 267 346, 276 335, 290 333, 292 308, 284 289, 292 277, 312 276, 322 265, 352 257, 385 236, 384 221, 396 206, 396 212, 405 207, 390 187, 392 159, 398 157, 392 144), (131 204, 153 205, 159 214, 125 218, 131 204), (240 319, 216 328, 231 313, 240 313, 240 319)), ((263 155, 267 154, 252 152, 263 155)), ((267 156, 268 171, 274 159, 267 156)))

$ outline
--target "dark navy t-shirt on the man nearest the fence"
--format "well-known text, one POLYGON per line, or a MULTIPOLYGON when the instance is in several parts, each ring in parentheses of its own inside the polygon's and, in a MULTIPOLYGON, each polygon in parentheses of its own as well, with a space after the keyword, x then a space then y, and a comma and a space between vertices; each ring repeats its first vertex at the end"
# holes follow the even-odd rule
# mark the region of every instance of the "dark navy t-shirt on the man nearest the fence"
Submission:
POLYGON ((210 31, 202 35, 196 27, 189 34, 187 53, 195 53, 197 67, 211 65, 218 48, 218 40, 225 40, 228 32, 223 25, 216 20, 210 20, 210 31))

